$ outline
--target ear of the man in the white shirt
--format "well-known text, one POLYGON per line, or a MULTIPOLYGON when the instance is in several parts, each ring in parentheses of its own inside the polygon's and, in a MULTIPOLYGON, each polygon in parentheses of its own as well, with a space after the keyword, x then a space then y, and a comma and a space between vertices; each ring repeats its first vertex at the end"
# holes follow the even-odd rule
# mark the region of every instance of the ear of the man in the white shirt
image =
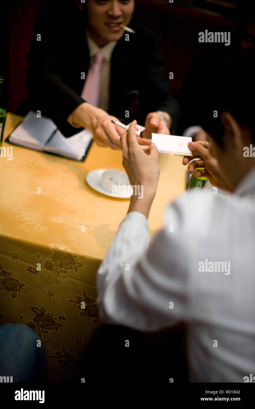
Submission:
POLYGON ((227 146, 228 143, 231 143, 232 146, 238 148, 241 144, 241 128, 239 124, 230 112, 227 111, 221 112, 220 119, 224 127, 223 144, 227 146))

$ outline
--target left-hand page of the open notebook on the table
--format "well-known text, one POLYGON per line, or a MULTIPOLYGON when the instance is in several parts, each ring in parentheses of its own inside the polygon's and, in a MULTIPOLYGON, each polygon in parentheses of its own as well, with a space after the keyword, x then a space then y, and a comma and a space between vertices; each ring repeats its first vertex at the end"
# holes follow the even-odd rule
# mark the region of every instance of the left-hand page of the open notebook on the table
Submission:
POLYGON ((37 118, 34 111, 29 111, 24 120, 11 133, 9 141, 42 151, 56 129, 56 125, 50 118, 37 118))

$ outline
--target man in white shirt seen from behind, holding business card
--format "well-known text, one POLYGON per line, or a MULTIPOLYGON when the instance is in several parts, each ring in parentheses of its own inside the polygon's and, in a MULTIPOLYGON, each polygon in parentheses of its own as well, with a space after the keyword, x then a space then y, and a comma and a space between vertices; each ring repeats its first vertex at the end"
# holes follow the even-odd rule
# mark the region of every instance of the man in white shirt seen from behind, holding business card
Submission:
POLYGON ((142 151, 135 121, 121 137, 124 168, 132 185, 143 185, 144 195, 131 196, 99 267, 100 316, 142 331, 185 321, 191 382, 249 382, 255 375, 252 66, 237 61, 220 73, 201 108, 210 143, 189 144, 202 158, 197 164, 205 167, 203 175, 231 192, 230 198, 189 191, 168 205, 152 243, 147 218, 158 183, 158 150, 151 144, 149 155, 142 151))

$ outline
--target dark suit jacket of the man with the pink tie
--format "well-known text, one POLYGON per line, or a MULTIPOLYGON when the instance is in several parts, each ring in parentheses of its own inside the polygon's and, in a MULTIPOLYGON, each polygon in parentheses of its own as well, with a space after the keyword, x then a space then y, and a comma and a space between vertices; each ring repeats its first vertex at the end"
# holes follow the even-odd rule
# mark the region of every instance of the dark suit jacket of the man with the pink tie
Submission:
MULTIPOLYGON (((129 41, 124 34, 113 50, 108 113, 124 123, 137 119, 143 124, 149 112, 166 111, 173 120, 173 133, 180 112, 163 74, 159 36, 134 23, 130 27, 137 34, 129 34, 129 41)), ((66 119, 84 102, 80 97, 85 82, 81 73, 87 74, 90 63, 85 29, 84 13, 77 7, 70 7, 68 12, 42 11, 27 57, 30 108, 50 117, 66 137, 80 130, 66 119)))

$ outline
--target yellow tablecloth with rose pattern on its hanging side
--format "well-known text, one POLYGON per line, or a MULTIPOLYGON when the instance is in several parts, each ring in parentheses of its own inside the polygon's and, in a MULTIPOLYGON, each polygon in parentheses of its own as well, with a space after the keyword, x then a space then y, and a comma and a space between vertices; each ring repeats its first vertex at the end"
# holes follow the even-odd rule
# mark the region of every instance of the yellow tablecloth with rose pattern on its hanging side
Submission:
MULTIPOLYGON (((7 115, 4 139, 22 119, 7 115)), ((129 200, 91 189, 86 175, 99 168, 123 170, 122 153, 93 143, 85 162, 75 162, 3 146, 13 147, 13 159, 0 157, 0 325, 31 326, 42 339, 49 380, 72 380, 84 346, 102 322, 96 272, 129 206, 129 200)), ((184 191, 181 161, 160 154, 151 235, 161 227, 167 202, 184 191)))

